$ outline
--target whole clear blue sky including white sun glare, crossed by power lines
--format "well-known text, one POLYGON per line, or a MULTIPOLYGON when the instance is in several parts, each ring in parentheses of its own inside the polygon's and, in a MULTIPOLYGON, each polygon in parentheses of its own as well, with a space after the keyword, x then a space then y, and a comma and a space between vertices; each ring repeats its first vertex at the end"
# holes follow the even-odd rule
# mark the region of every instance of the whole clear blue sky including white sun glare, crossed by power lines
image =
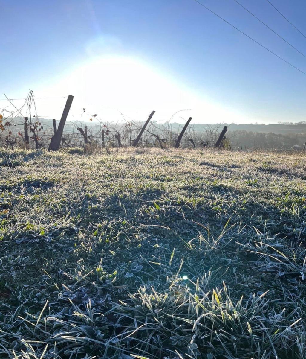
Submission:
MULTIPOLYGON (((305 1, 270 1, 306 34, 305 1)), ((234 0, 201 2, 306 72, 306 58, 234 0)), ((306 38, 266 0, 240 3, 306 55, 306 38)), ((104 117, 114 113, 109 108, 132 118, 155 109, 161 120, 184 108, 197 123, 305 120, 306 75, 194 0, 0 4, 0 98, 24 97, 31 88, 43 116, 55 116, 62 100, 40 97, 69 92, 74 116, 91 106, 104 117)))

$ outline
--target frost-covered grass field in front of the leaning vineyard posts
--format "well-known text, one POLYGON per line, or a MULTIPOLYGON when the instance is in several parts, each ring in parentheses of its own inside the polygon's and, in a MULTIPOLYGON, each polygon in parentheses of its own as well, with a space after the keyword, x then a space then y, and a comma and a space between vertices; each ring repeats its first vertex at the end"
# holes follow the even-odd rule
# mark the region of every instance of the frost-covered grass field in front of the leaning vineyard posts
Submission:
POLYGON ((306 358, 305 155, 0 155, 0 358, 306 358))

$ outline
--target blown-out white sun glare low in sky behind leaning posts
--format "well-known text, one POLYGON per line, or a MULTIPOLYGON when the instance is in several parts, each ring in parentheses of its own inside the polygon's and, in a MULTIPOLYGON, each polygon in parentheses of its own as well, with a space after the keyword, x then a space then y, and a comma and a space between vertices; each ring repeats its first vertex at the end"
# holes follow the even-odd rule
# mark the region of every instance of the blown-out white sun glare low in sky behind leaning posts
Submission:
MULTIPOLYGON (((242 114, 214 103, 205 94, 201 97, 179 81, 131 57, 95 58, 62 76, 60 81, 38 87, 35 94, 37 98, 74 95, 70 120, 88 119, 81 116, 85 107, 86 112, 97 113, 97 118, 105 121, 122 120, 119 112, 127 118, 145 120, 152 110, 156 111, 155 120, 166 121, 182 109, 190 111, 178 113, 173 121, 183 122, 189 116, 193 117, 194 123, 245 121, 242 114)), ((37 100, 37 107, 41 116, 59 118, 62 111, 61 106, 48 100, 37 100)))

